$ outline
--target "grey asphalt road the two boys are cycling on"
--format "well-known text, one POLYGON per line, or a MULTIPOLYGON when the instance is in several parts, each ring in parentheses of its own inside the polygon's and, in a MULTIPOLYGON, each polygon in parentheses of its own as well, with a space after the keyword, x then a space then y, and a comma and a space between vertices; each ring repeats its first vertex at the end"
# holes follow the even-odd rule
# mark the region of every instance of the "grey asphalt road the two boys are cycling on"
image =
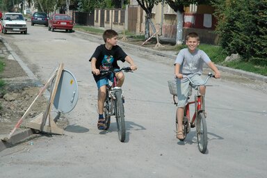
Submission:
POLYGON ((79 101, 64 115, 70 126, 63 136, 41 136, 0 152, 1 177, 267 177, 265 92, 211 79, 208 151, 201 154, 195 129, 184 142, 175 137, 176 107, 167 84, 174 59, 124 48, 138 70, 126 74, 123 86, 127 140, 120 143, 114 118, 107 133, 97 130, 97 87, 88 59, 103 41, 44 26, 28 31, 1 35, 42 83, 64 63, 78 81, 79 101))

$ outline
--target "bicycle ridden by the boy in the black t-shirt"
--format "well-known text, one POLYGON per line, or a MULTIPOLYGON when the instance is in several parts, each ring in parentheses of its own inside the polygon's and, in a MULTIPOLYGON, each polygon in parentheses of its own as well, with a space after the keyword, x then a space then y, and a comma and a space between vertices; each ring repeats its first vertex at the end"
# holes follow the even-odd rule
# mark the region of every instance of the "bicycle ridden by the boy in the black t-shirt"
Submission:
POLYGON ((125 115, 124 115, 124 96, 122 92, 122 88, 117 86, 117 77, 115 73, 117 72, 132 72, 131 67, 122 67, 120 70, 102 70, 100 71, 101 76, 107 76, 109 74, 113 74, 113 83, 111 86, 106 86, 106 99, 104 102, 104 120, 105 125, 104 129, 108 130, 111 124, 111 116, 115 115, 117 127, 118 127, 118 135, 121 142, 125 140, 125 115))

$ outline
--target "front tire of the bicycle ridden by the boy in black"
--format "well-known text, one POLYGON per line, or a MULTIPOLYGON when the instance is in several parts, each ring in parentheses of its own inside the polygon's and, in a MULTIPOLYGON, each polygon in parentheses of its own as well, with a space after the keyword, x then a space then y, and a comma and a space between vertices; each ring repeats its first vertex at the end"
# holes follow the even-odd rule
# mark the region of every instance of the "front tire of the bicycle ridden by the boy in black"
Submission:
POLYGON ((124 106, 122 103, 122 90, 115 91, 115 118, 118 127, 118 135, 121 142, 125 140, 124 106))

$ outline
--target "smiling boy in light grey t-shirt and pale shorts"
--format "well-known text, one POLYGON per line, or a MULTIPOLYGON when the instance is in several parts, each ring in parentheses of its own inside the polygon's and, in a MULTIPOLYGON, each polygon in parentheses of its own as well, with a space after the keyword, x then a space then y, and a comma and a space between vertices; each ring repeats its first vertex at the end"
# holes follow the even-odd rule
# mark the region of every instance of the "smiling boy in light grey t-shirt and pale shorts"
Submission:
MULTIPOLYGON (((177 120, 178 131, 177 138, 184 140, 184 133, 182 130, 182 122, 184 118, 184 107, 188 102, 189 84, 188 79, 183 78, 183 75, 193 76, 191 80, 195 83, 203 83, 200 75, 202 74, 203 63, 207 65, 215 72, 215 78, 220 78, 220 72, 216 65, 211 62, 209 56, 202 50, 197 49, 200 44, 200 38, 197 33, 189 33, 186 36, 187 48, 181 49, 175 60, 175 77, 177 78, 177 96, 178 96, 178 108, 177 108, 177 120)), ((200 86, 200 94, 205 95, 205 86, 200 86)))

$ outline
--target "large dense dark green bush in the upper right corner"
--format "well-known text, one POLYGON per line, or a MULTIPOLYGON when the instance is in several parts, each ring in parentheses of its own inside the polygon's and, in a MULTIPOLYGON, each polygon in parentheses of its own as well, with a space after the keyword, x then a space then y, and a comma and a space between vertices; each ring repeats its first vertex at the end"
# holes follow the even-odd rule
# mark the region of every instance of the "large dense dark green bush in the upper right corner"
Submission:
POLYGON ((216 7, 220 44, 230 54, 240 54, 242 60, 267 65, 267 1, 218 0, 216 7))

